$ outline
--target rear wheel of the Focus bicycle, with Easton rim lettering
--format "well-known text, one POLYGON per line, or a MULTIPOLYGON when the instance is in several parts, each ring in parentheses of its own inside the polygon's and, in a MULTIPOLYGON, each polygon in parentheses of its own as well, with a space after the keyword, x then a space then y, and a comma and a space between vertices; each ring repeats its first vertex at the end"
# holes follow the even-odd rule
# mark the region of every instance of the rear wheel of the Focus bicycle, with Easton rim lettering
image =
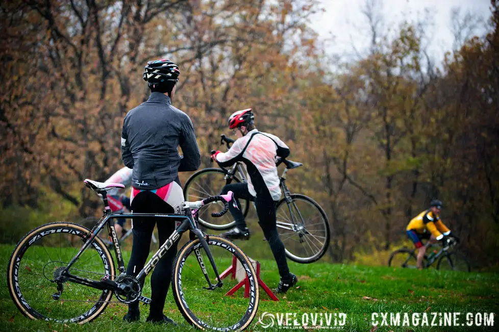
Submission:
MULTIPOLYGON (((83 324, 106 309, 113 295, 111 291, 69 281, 58 285, 54 281, 82 247, 82 238, 88 232, 77 224, 55 222, 35 228, 19 241, 9 260, 7 285, 24 316, 83 324), (76 244, 73 237, 79 239, 76 244)), ((104 243, 95 238, 69 273, 92 280, 105 276, 112 280, 115 275, 112 256, 104 243)))

